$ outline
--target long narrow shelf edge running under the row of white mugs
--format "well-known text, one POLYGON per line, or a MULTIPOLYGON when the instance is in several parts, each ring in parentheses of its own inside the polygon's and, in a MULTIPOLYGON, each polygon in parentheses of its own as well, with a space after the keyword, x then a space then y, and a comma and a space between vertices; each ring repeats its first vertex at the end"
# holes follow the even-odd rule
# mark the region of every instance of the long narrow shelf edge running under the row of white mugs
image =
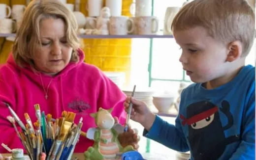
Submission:
MULTIPOLYGON (((15 37, 15 33, 0 33, 0 37, 15 37)), ((79 35, 80 38, 173 38, 173 35, 79 35)))

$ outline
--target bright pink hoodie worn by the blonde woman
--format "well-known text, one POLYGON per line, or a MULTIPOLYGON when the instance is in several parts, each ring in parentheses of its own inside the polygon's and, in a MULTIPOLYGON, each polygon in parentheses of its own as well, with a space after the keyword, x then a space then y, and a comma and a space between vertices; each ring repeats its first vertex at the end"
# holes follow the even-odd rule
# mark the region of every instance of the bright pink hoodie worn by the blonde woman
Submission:
MULTIPOLYGON (((11 149, 23 148, 12 124, 6 118, 11 114, 2 102, 9 103, 24 124, 25 112, 30 115, 32 122, 36 121, 35 104, 39 104, 45 114, 52 114, 53 118, 61 117, 63 110, 75 112, 76 124, 83 117, 84 132, 96 127, 90 113, 96 112, 99 107, 113 107, 112 115, 119 117, 121 124, 125 123, 125 94, 98 68, 84 63, 81 50, 79 56, 78 63, 70 62, 55 77, 34 72, 31 67, 20 68, 15 64, 12 54, 9 56, 7 64, 0 68, 0 144, 5 143, 11 149)), ((92 140, 80 136, 75 152, 84 152, 92 144, 92 140)), ((0 147, 0 153, 5 152, 0 147)))

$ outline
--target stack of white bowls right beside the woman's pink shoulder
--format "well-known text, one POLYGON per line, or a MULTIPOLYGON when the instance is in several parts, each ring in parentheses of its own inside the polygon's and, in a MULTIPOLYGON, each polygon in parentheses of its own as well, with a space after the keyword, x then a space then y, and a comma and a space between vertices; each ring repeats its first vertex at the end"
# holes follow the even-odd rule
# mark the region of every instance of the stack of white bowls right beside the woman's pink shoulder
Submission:
POLYGON ((125 82, 125 73, 124 72, 104 72, 104 74, 112 80, 119 88, 122 88, 125 82))

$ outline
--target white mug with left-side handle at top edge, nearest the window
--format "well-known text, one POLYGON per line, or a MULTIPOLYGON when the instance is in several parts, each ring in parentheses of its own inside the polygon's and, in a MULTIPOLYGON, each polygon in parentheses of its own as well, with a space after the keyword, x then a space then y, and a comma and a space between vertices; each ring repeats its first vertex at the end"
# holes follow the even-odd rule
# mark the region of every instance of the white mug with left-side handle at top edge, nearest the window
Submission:
POLYGON ((130 5, 131 15, 138 16, 151 16, 152 12, 152 0, 135 0, 135 3, 130 5), (135 5, 135 13, 134 13, 135 5))

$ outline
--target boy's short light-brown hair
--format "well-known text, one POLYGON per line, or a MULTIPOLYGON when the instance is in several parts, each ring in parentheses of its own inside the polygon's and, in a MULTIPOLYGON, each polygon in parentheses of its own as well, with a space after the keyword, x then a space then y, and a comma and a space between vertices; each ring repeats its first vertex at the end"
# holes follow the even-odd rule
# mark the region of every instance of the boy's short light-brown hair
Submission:
POLYGON ((255 37, 255 14, 246 0, 194 0, 181 8, 171 28, 175 32, 196 26, 225 45, 241 41, 246 56, 255 37))

